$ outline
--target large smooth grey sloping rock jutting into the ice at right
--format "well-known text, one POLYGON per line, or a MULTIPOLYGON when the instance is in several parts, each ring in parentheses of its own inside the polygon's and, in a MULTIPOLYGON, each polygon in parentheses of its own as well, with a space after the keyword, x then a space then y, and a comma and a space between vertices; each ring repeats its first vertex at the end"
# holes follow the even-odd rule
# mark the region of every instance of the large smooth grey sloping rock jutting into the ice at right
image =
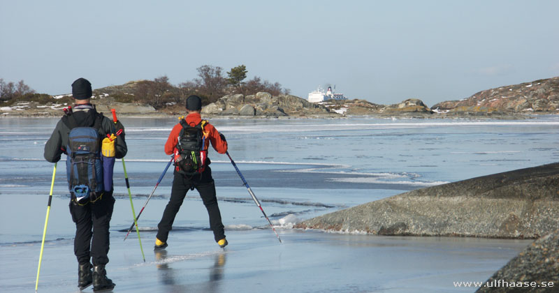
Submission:
POLYGON ((559 227, 559 163, 412 190, 298 228, 535 239, 559 227))

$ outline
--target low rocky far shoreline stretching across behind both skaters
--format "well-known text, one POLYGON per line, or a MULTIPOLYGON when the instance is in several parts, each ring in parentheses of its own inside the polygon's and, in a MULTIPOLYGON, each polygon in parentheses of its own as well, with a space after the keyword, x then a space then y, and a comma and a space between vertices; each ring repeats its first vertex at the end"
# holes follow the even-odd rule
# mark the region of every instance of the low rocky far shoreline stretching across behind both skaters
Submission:
MULTIPOLYGON (((124 115, 168 116, 184 114, 184 97, 153 107, 140 103, 134 92, 145 81, 94 90, 92 97, 101 112, 115 108, 124 115)), ((59 116, 71 105, 71 95, 40 95, 40 99, 12 101, 0 105, 0 117, 59 116), (45 97, 47 96, 47 97, 45 97)), ((422 100, 409 98, 393 105, 378 105, 368 100, 327 100, 310 103, 297 96, 267 92, 229 94, 204 105, 206 117, 244 118, 337 118, 351 116, 405 118, 495 118, 525 119, 530 114, 559 114, 559 77, 488 89, 463 100, 450 100, 428 107, 422 100)))

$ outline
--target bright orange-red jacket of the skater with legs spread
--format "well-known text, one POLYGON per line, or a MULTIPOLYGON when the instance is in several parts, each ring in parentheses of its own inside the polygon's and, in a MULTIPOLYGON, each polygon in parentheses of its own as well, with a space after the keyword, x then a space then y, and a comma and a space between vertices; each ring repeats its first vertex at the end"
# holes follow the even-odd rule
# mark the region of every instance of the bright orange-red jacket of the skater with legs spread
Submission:
MULTIPOLYGON (((189 126, 196 126, 200 121, 202 121, 202 117, 198 113, 191 113, 185 118, 189 126)), ((175 147, 178 143, 178 136, 180 134, 180 130, 182 129, 182 125, 177 123, 173 130, 170 131, 170 135, 167 138, 167 142, 165 143, 165 153, 170 155, 173 153, 175 147)), ((210 146, 210 142, 212 142, 212 147, 218 153, 225 153, 227 151, 227 142, 222 140, 222 137, 219 136, 217 129, 210 123, 206 123, 203 129, 204 133, 208 135, 205 139, 204 149, 208 149, 210 146), (210 141, 210 142, 208 142, 210 141)))

